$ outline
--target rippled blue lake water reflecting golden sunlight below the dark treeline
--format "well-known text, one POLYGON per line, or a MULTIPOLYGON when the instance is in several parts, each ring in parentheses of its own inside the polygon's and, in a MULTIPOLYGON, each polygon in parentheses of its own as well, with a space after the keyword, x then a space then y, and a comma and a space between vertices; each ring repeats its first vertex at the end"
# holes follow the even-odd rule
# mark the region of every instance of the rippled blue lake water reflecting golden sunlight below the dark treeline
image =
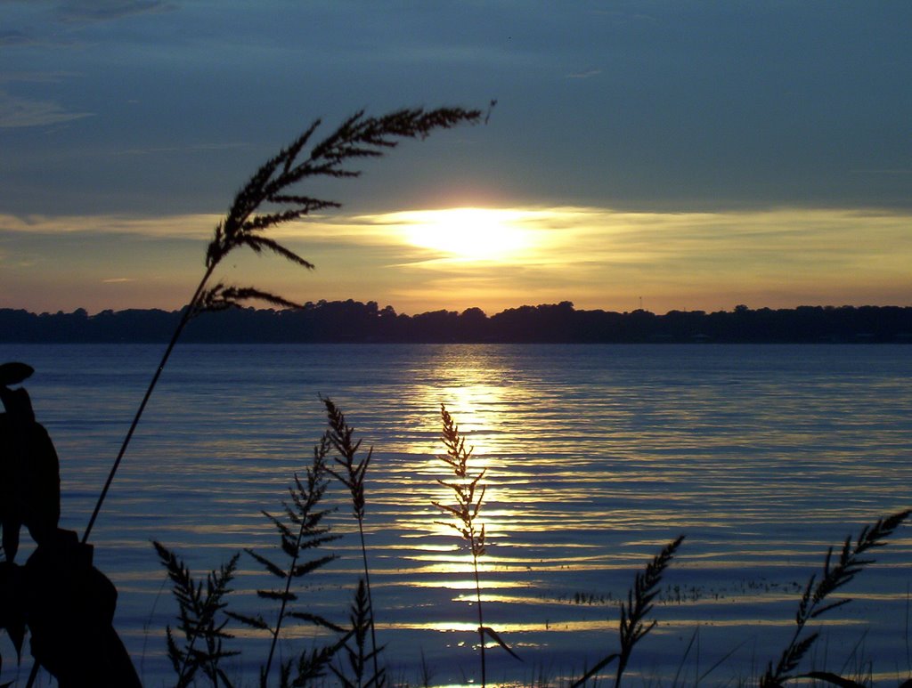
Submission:
MULTIPOLYGON (((36 368, 26 385, 61 459, 62 523, 85 529, 161 355, 154 345, 0 345, 36 368)), ((489 683, 554 683, 617 650, 618 601, 661 546, 685 533, 634 651, 627 683, 749 681, 791 638, 826 548, 912 506, 912 347, 749 345, 180 345, 92 533, 119 589, 117 627, 147 686, 172 680, 164 627, 176 605, 150 540, 194 572, 233 552, 275 553, 278 513, 325 416, 320 395, 374 447, 367 540, 378 621, 396 681, 479 678, 471 562, 432 499, 440 404, 487 467, 482 508, 485 622, 523 662, 488 651, 489 683)), ((308 607, 347 621, 360 567, 337 485, 329 547, 308 607)), ((27 536, 25 537, 27 541, 27 536)), ((25 560, 27 549, 20 553, 25 560)), ((868 673, 896 685, 912 668, 912 529, 896 532, 819 621, 803 671, 868 673)), ((229 600, 270 585, 249 557, 229 600)), ((816 627, 816 626, 815 626, 816 627)), ((238 684, 254 685, 266 641, 239 632, 238 684)), ((286 657, 312 646, 293 629, 286 657), (302 644, 303 643, 303 644, 302 644)), ((15 652, 0 682, 18 675, 15 652)), ((47 674, 45 684, 48 684, 47 674)))

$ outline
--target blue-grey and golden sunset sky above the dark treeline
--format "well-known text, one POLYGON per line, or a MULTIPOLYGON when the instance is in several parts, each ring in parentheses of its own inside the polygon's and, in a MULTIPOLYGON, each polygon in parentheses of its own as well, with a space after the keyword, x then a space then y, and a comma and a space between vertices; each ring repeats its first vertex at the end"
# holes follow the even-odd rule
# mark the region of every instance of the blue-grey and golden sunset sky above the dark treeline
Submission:
POLYGON ((217 278, 400 313, 912 305, 912 3, 0 0, 0 308, 186 303, 316 118, 497 104, 217 278))

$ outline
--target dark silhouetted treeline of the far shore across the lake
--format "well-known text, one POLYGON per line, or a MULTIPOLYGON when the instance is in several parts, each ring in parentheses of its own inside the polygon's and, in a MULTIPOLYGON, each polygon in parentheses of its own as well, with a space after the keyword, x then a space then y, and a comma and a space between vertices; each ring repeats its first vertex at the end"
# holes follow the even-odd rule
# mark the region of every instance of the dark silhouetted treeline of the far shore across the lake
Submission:
MULTIPOLYGON (((167 343, 180 311, 88 315, 0 309, 4 344, 167 343)), ((296 310, 203 313, 181 341, 198 344, 912 344, 912 307, 799 306, 732 311, 576 310, 562 302, 488 316, 481 309, 406 315, 356 301, 296 310)))

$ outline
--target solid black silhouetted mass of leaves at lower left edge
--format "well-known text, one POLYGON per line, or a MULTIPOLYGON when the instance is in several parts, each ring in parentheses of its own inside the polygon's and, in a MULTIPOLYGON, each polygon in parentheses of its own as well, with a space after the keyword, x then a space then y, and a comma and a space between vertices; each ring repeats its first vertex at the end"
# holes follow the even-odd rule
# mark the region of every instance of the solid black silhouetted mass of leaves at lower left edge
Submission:
MULTIPOLYGON (((60 688, 141 688, 117 632, 117 589, 92 566, 93 548, 76 532, 57 528, 60 475, 57 452, 36 423, 19 385, 34 370, 0 365, 0 628, 21 652, 26 628, 32 656, 60 688), (37 545, 25 566, 15 563, 25 525, 37 545)), ((33 671, 33 679, 35 675, 33 671)), ((29 685, 31 685, 30 679, 29 685)))

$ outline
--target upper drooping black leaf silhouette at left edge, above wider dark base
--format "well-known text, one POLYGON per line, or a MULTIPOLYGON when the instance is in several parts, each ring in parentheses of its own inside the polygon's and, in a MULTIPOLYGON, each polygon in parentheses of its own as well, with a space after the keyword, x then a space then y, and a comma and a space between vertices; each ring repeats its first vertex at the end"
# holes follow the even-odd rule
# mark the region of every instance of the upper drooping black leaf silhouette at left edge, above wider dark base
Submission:
POLYGON ((30 365, 0 365, 0 525, 7 561, 16 559, 23 525, 37 544, 51 537, 60 519, 60 470, 47 430, 35 421, 32 402, 18 385, 30 365))

